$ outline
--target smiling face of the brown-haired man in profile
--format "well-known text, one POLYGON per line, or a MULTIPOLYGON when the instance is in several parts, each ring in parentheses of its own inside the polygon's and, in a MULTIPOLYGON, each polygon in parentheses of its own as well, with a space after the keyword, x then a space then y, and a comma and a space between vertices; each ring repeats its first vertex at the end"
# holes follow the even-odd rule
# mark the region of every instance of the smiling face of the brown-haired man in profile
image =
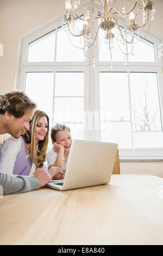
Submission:
POLYGON ((29 121, 32 120, 34 110, 27 109, 21 118, 16 118, 8 112, 5 113, 7 119, 7 130, 15 139, 20 138, 23 130, 29 130, 29 121))

